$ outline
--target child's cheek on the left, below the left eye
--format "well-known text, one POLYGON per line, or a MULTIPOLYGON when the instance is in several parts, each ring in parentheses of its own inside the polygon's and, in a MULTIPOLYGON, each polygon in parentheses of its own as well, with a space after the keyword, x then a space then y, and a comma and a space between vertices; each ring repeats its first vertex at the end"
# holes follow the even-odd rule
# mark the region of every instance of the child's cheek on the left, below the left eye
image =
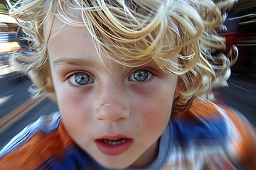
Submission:
POLYGON ((90 132, 87 130, 90 130, 94 123, 90 109, 92 101, 81 93, 61 88, 56 94, 65 130, 78 145, 85 146, 88 141, 85 136, 90 138, 90 132))

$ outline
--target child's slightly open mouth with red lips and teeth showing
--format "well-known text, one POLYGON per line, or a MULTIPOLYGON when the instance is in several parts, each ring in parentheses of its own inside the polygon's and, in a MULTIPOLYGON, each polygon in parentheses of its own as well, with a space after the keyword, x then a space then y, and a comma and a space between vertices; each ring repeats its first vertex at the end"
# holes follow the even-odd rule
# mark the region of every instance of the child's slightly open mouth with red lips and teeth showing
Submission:
POLYGON ((114 137, 114 140, 112 140, 112 137, 104 137, 95 140, 95 144, 100 152, 110 156, 117 156, 119 154, 123 154, 129 149, 129 147, 132 145, 132 142, 132 139, 124 137, 114 137))

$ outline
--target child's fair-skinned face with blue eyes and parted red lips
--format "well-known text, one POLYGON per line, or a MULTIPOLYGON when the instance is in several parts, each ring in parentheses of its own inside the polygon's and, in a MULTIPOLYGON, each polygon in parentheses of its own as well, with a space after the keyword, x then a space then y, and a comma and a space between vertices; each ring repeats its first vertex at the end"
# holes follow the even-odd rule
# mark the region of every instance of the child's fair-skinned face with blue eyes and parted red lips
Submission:
MULTIPOLYGON (((53 33, 63 23, 55 19, 53 33)), ((48 43, 55 93, 70 137, 109 168, 146 166, 158 153, 177 76, 154 62, 124 67, 97 55, 86 28, 65 26, 48 43)))

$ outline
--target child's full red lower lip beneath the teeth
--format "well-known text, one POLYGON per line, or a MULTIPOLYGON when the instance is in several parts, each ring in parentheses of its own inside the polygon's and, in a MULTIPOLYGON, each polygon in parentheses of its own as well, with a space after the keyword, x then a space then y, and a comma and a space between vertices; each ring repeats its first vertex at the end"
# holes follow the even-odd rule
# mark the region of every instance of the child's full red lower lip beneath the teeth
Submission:
POLYGON ((119 154, 123 154, 132 145, 132 139, 127 139, 125 142, 119 145, 108 145, 102 140, 95 140, 95 142, 100 152, 110 156, 117 156, 119 154))

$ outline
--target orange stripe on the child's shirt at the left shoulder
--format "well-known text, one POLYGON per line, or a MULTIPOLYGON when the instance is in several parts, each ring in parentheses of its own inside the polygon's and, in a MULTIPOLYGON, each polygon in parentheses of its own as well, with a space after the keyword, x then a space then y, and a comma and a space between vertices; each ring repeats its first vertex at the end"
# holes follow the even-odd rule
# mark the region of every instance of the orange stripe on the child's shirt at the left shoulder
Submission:
POLYGON ((60 121, 60 127, 45 135, 43 132, 32 134, 29 141, 1 159, 0 167, 9 169, 36 169, 43 162, 56 154, 62 154, 67 145, 75 145, 60 121))

